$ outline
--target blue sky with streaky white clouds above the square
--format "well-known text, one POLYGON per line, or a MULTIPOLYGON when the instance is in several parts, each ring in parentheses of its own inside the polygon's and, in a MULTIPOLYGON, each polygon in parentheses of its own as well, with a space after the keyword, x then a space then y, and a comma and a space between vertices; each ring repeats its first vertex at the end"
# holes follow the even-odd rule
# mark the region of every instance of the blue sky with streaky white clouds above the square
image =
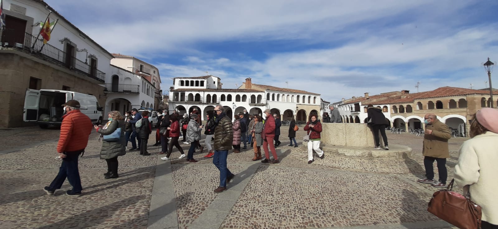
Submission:
POLYGON ((496 0, 45 1, 109 52, 156 66, 163 89, 208 72, 224 88, 288 81, 334 102, 417 81, 483 88, 481 64, 498 61, 496 0))

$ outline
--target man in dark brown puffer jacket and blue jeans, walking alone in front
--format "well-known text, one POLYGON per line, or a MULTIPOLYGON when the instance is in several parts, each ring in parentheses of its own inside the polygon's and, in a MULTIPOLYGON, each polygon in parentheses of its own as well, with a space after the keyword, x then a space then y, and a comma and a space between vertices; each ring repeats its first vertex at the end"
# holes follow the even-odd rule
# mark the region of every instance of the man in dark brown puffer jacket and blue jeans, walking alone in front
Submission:
POLYGON ((234 179, 233 174, 227 167, 228 151, 232 149, 233 125, 229 117, 225 113, 225 108, 222 105, 215 107, 215 155, 213 164, 220 170, 220 185, 214 190, 216 193, 227 190, 227 183, 234 179))

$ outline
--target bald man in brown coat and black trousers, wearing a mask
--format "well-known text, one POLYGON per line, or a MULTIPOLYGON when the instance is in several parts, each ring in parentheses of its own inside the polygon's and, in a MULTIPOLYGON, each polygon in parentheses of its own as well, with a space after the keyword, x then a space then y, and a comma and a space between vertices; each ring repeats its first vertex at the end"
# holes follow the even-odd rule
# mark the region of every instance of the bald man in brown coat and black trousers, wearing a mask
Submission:
POLYGON ((448 140, 451 139, 451 131, 446 124, 440 122, 435 114, 424 116, 425 132, 424 155, 425 178, 418 179, 420 183, 432 184, 434 187, 446 187, 448 171, 446 170, 446 158, 450 157, 448 150, 448 140), (437 161, 439 170, 439 181, 434 181, 434 168, 432 164, 437 161))

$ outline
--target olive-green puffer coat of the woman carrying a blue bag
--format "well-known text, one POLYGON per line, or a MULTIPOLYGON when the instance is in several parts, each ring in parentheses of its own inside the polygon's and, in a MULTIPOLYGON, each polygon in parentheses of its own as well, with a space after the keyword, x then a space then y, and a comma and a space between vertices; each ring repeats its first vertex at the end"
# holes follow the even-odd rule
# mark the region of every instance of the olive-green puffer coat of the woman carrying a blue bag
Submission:
MULTIPOLYGON (((119 142, 106 142, 102 140, 102 149, 100 150, 101 159, 111 159, 117 156, 123 156, 126 154, 126 139, 124 139, 124 120, 113 120, 107 129, 99 128, 97 132, 102 135, 110 135, 116 131, 118 128, 121 130, 121 139, 119 142)), ((131 128, 130 128, 131 129, 131 128)))

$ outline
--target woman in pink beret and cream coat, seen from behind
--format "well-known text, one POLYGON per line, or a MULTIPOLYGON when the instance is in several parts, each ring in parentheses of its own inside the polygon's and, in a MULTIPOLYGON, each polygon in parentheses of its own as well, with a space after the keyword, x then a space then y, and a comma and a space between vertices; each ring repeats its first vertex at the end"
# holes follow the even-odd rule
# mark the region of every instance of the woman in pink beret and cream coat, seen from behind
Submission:
POLYGON ((483 108, 472 117, 472 139, 463 143, 455 181, 482 208, 482 229, 498 229, 498 110, 483 108))

